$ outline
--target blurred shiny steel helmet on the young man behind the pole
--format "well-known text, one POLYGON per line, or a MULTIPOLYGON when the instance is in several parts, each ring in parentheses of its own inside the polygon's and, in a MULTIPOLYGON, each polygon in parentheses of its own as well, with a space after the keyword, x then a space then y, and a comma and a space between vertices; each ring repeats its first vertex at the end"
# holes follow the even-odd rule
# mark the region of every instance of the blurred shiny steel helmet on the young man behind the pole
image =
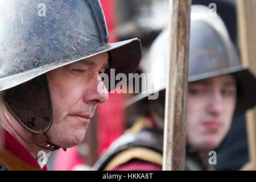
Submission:
MULTIPOLYGON (((147 82, 152 90, 142 90, 141 94, 127 102, 127 107, 146 99, 152 93, 166 89, 168 35, 168 29, 166 29, 156 38, 140 65, 144 73, 152 74, 151 82, 147 82)), ((237 50, 220 16, 210 14, 206 6, 193 5, 188 81, 193 82, 226 74, 232 74, 237 80, 236 113, 253 107, 256 104, 256 78, 248 69, 242 67, 237 50)))

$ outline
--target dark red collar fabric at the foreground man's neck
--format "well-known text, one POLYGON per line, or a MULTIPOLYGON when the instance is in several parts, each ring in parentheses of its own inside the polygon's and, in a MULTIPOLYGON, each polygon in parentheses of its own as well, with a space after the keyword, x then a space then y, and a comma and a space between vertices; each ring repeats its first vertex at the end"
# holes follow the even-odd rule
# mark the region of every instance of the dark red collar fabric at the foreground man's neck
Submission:
MULTIPOLYGON (((24 162, 27 162, 28 164, 32 164, 40 168, 38 162, 32 157, 30 152, 28 152, 26 148, 24 148, 22 144, 20 144, 13 137, 13 135, 9 134, 7 131, 5 131, 4 133, 5 133, 5 140, 4 140, 3 147, 6 150, 10 151, 14 155, 16 155, 18 158, 24 160, 24 162)), ((47 166, 45 165, 42 170, 47 171, 47 166)))

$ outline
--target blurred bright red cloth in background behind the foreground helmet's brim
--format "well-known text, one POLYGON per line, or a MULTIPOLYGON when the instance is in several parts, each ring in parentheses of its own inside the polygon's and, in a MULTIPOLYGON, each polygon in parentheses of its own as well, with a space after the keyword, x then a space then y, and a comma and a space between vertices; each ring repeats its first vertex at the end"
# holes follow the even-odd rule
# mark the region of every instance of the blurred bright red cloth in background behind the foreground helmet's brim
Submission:
MULTIPOLYGON (((109 32, 109 42, 118 42, 114 33, 116 27, 115 0, 100 0, 109 32)), ((109 100, 97 106, 97 140, 100 156, 125 130, 125 110, 121 94, 109 93, 109 100)))

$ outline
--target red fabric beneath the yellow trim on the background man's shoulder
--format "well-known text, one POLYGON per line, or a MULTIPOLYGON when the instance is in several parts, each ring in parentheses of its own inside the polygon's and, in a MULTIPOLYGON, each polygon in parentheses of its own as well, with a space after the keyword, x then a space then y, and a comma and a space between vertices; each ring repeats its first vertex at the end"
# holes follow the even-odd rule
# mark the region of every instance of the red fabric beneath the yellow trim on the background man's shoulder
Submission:
POLYGON ((162 171, 162 166, 144 160, 133 159, 114 167, 111 171, 162 171))

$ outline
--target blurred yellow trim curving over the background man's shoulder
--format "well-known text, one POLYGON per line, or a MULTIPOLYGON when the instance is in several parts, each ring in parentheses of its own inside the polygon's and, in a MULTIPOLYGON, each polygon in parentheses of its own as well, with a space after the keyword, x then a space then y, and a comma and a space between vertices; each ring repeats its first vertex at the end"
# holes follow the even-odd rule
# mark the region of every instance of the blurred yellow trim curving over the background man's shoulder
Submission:
POLYGON ((160 166, 162 166, 163 164, 163 157, 158 152, 150 150, 149 148, 134 147, 122 151, 118 155, 116 155, 108 163, 104 170, 108 171, 110 169, 113 169, 114 167, 129 162, 131 159, 141 159, 146 162, 158 164, 160 166))

